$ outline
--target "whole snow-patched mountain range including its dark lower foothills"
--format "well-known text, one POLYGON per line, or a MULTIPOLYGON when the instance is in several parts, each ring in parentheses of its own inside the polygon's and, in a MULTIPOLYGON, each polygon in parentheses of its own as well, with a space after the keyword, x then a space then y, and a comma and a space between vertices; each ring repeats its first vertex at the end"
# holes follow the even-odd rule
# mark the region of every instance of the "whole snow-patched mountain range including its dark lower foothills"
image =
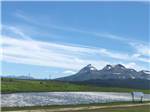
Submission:
POLYGON ((55 80, 105 87, 150 89, 150 71, 136 71, 121 64, 106 65, 101 70, 89 64, 76 74, 55 80))

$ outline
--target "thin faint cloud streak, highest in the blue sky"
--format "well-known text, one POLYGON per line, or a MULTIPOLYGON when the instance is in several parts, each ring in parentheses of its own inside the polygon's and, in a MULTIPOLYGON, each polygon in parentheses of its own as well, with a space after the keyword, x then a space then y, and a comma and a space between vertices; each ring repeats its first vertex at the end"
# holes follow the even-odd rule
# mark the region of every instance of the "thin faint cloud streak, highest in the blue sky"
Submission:
POLYGON ((117 40, 117 41, 127 43, 127 44, 129 44, 129 42, 138 42, 137 40, 132 40, 131 38, 114 35, 114 34, 111 34, 108 32, 104 33, 104 32, 87 31, 87 30, 83 30, 81 28, 54 25, 52 23, 43 23, 42 22, 42 24, 41 24, 40 20, 37 20, 34 17, 29 16, 29 15, 27 16, 25 13, 23 13, 21 11, 16 12, 15 16, 28 22, 28 23, 31 23, 33 25, 38 25, 41 27, 47 27, 47 28, 62 30, 62 31, 66 31, 66 32, 76 32, 76 33, 88 34, 88 35, 91 35, 92 37, 94 36, 94 37, 98 37, 98 38, 112 39, 112 40, 117 40))

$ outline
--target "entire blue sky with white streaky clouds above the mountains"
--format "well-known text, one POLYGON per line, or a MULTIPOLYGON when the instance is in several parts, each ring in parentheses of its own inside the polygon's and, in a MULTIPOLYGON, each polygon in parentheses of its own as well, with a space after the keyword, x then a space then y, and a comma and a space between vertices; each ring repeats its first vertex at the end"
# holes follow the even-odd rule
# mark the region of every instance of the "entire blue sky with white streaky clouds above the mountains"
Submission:
POLYGON ((1 75, 52 78, 91 63, 149 70, 146 2, 3 2, 1 75))

